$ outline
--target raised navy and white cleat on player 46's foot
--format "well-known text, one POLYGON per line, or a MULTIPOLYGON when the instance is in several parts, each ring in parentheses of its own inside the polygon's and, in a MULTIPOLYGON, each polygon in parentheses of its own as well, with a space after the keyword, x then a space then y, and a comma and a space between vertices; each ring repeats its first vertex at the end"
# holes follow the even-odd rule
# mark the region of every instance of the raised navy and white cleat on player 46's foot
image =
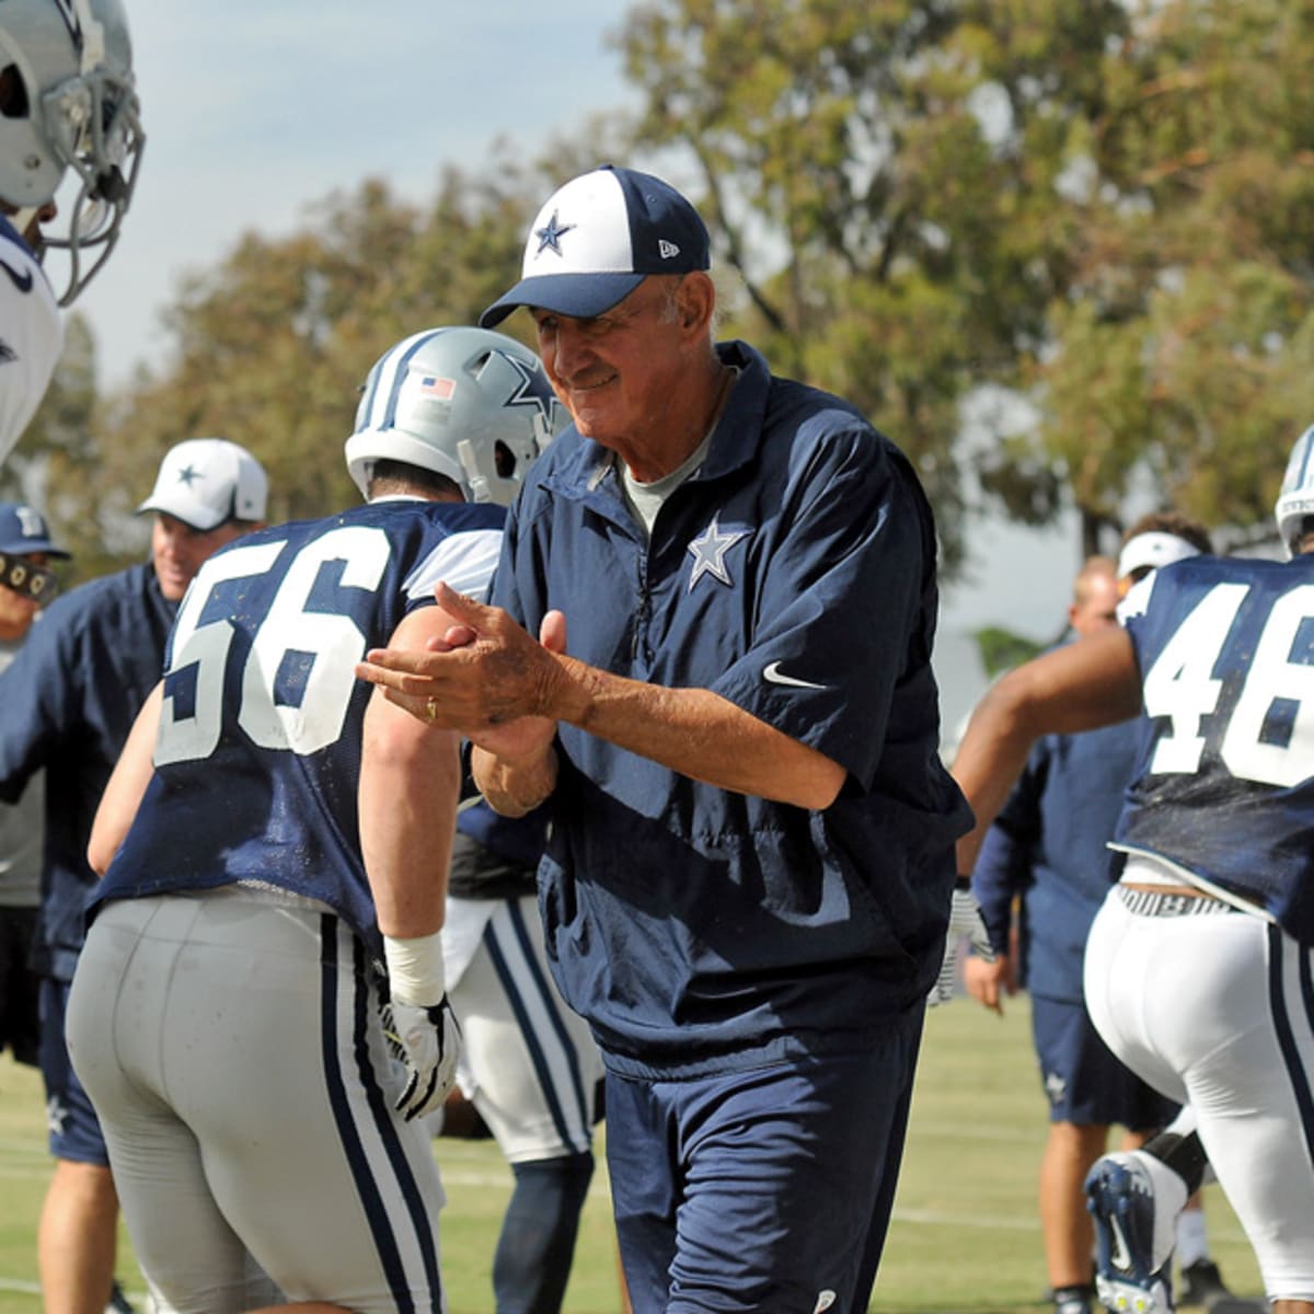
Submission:
POLYGON ((1168 1264, 1151 1268, 1154 1181, 1133 1154, 1097 1159, 1085 1179, 1100 1300, 1114 1314, 1172 1314, 1168 1264))

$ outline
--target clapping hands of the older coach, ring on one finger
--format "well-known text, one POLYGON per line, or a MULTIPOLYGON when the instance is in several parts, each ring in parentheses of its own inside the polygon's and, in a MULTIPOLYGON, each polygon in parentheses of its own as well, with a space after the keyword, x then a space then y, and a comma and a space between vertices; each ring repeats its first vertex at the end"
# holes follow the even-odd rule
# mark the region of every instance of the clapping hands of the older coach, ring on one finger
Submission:
POLYGON ((565 618, 548 612, 539 641, 501 607, 487 607, 439 583, 438 604, 453 624, 427 652, 373 648, 356 666, 389 702, 418 720, 457 731, 498 757, 543 753, 556 737, 545 715, 561 673, 565 618))

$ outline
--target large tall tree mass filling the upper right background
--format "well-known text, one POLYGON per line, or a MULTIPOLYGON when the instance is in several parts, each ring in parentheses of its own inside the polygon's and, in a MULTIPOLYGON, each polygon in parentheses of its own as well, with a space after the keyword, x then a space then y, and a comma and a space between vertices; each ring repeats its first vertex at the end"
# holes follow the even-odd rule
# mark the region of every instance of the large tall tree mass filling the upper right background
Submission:
POLYGON ((619 43, 735 322, 913 456, 951 568, 974 484, 1033 523, 1067 485, 1087 552, 1138 466, 1213 523, 1260 514, 1309 414, 1305 8, 653 0, 619 43), (1038 426, 964 445, 986 385, 1038 426))

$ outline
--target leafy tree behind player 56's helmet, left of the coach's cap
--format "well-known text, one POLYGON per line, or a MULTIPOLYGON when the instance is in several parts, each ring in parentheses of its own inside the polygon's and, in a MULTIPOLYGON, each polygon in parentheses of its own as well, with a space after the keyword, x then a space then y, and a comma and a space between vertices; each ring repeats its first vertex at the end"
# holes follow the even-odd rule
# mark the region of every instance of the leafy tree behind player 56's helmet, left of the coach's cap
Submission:
POLYGON ((148 487, 167 447, 217 435, 265 465, 271 519, 356 501, 342 448, 369 367, 410 332, 469 322, 518 259, 498 206, 523 205, 494 197, 484 209, 469 193, 452 172, 420 210, 365 181, 318 206, 314 226, 248 233, 191 277, 164 317, 172 357, 109 420, 108 481, 148 487))

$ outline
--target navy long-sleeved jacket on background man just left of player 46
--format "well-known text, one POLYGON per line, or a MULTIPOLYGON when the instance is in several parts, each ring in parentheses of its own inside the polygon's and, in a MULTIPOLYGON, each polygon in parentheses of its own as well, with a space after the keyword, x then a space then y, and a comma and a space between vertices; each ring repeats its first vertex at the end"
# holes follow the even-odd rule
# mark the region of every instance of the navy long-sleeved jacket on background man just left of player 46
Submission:
POLYGON ((1083 999, 1085 940, 1109 892, 1108 842, 1139 742, 1135 720, 1046 735, 986 833, 972 892, 991 942, 1005 953, 1021 895, 1018 976, 1033 995, 1083 999))

